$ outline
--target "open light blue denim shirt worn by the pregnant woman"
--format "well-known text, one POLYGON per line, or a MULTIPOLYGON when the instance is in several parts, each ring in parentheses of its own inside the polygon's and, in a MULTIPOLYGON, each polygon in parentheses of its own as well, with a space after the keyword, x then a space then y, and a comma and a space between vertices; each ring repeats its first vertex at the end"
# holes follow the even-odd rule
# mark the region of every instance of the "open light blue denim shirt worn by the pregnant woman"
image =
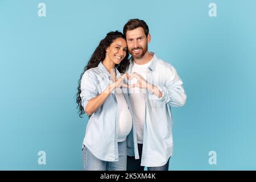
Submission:
MULTIPOLYGON (((115 68, 117 78, 121 76, 115 68)), ((100 62, 98 67, 88 69, 81 79, 82 107, 86 108, 88 101, 102 93, 109 84, 112 84, 110 73, 100 62)), ((127 84, 127 82, 126 82, 127 84)), ((127 88, 122 88, 128 109, 131 112, 131 104, 127 88)), ((129 134, 134 142, 135 158, 138 159, 137 135, 134 127, 129 134)), ((115 162, 118 161, 118 103, 114 91, 109 95, 104 104, 98 108, 89 118, 86 126, 83 144, 96 158, 115 162)))

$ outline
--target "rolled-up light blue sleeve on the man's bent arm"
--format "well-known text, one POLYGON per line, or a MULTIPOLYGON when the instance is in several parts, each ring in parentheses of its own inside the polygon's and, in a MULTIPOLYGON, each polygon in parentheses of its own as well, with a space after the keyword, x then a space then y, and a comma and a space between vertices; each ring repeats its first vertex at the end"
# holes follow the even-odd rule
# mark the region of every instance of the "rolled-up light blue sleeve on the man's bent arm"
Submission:
POLYGON ((158 98, 158 101, 163 101, 175 107, 183 106, 187 100, 183 82, 179 75, 177 75, 174 67, 170 66, 166 69, 166 84, 164 86, 158 86, 158 89, 162 92, 162 97, 158 98))

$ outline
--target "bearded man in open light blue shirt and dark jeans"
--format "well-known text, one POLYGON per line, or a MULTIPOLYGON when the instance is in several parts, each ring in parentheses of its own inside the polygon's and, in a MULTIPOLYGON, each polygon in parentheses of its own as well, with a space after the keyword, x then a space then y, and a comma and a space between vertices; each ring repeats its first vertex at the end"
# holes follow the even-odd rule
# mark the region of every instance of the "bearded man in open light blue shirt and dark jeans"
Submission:
POLYGON ((171 106, 183 106, 187 99, 183 82, 171 64, 148 52, 146 22, 129 20, 123 27, 132 55, 129 68, 129 97, 134 113, 137 141, 127 137, 127 170, 168 171, 173 150, 171 106), (134 142, 139 159, 134 158, 134 142))

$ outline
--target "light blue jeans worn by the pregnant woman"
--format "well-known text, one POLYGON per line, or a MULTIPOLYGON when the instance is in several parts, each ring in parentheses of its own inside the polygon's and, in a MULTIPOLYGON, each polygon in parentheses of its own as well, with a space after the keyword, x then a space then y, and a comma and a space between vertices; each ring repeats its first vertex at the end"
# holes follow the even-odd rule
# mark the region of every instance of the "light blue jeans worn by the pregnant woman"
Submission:
POLYGON ((119 158, 117 162, 108 162, 96 158, 87 147, 82 148, 82 170, 84 171, 126 171, 127 143, 118 142, 119 158))

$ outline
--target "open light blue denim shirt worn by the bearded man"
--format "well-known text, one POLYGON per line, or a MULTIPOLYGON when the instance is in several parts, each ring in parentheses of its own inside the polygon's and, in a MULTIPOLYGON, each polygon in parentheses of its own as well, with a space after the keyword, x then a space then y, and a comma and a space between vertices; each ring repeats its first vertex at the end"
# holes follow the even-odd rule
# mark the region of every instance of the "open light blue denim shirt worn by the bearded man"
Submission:
MULTIPOLYGON (((128 74, 131 74, 132 67, 131 59, 127 69, 128 74)), ((158 86, 162 97, 158 98, 149 91, 146 92, 141 166, 158 167, 167 163, 173 151, 171 106, 183 106, 187 96, 183 89, 183 82, 171 64, 160 60, 154 54, 148 69, 146 80, 158 86)), ((127 138, 129 156, 134 156, 133 146, 133 138, 127 138)))

